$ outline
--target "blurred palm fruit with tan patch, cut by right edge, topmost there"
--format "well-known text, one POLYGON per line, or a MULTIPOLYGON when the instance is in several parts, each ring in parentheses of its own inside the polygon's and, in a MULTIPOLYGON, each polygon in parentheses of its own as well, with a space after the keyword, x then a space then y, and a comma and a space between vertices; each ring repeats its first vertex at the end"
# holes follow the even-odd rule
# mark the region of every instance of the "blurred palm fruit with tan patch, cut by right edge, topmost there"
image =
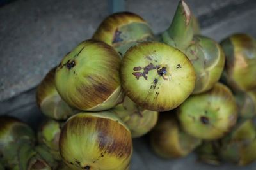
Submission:
POLYGON ((226 64, 221 81, 234 92, 256 88, 256 41, 247 34, 232 34, 220 45, 226 64))

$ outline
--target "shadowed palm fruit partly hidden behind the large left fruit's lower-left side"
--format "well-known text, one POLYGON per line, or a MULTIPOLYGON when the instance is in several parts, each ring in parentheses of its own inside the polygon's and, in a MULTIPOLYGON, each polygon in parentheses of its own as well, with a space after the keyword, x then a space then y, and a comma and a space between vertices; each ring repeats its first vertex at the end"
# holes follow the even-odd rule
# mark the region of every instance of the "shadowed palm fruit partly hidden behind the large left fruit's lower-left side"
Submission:
POLYGON ((55 83, 56 67, 51 69, 36 90, 36 103, 42 113, 47 117, 56 120, 66 120, 71 115, 77 113, 77 110, 70 107, 58 94, 55 83))

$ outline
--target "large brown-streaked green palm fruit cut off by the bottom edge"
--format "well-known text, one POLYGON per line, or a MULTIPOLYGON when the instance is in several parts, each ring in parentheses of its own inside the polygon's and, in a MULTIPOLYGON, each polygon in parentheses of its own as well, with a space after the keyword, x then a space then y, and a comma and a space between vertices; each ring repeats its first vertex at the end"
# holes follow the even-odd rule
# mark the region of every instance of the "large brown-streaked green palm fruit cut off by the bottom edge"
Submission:
POLYGON ((109 111, 78 113, 61 130, 60 153, 72 169, 129 169, 131 132, 109 111))

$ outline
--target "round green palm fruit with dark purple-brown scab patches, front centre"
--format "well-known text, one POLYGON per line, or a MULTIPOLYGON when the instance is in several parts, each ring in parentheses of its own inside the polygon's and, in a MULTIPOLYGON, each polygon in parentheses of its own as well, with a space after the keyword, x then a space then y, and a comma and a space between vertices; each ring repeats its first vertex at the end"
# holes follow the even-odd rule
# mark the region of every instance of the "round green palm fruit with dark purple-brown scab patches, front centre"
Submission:
POLYGON ((121 64, 125 94, 142 108, 168 111, 193 91, 196 73, 189 59, 176 48, 143 42, 125 53, 121 64))

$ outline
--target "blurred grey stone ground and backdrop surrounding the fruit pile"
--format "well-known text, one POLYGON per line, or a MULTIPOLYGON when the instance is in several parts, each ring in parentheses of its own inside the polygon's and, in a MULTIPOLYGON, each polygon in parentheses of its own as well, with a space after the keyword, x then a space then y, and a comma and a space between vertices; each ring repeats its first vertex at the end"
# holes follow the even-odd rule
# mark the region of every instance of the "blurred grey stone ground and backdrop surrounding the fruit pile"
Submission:
MULTIPOLYGON (((0 0, 0 115, 19 117, 36 128, 43 118, 35 90, 45 74, 111 13, 131 11, 151 25, 167 29, 179 0, 0 0)), ((255 0, 187 0, 202 34, 220 42, 235 32, 256 38, 255 0)), ((191 153, 179 160, 157 158, 147 137, 134 139, 131 169, 256 169, 196 162, 191 153), (185 162, 185 163, 184 163, 185 162)))

